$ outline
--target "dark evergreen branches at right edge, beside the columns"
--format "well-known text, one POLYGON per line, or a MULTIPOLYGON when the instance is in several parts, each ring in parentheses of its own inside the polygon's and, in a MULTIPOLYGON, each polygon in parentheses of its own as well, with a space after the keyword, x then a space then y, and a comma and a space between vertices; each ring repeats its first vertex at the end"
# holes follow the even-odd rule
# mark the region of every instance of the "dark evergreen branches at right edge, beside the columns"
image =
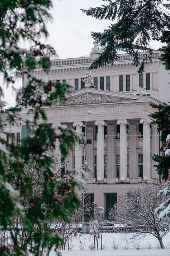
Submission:
POLYGON ((151 104, 153 108, 156 108, 158 111, 150 114, 150 117, 154 120, 152 123, 157 125, 157 131, 160 132, 161 140, 161 152, 162 156, 155 155, 152 156, 152 159, 157 162, 156 170, 159 175, 162 174, 162 178, 167 180, 170 169, 170 156, 165 156, 164 152, 166 149, 170 148, 170 143, 166 143, 166 137, 170 134, 170 105, 151 104))

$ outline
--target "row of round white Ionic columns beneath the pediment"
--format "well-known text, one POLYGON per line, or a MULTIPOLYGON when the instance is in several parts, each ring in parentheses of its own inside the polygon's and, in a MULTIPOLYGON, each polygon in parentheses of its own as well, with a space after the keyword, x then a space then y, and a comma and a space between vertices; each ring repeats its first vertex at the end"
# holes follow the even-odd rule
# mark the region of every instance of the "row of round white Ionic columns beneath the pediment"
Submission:
MULTIPOLYGON (((141 119, 143 124, 143 180, 151 180, 150 171, 150 122, 149 118, 141 119)), ((104 181, 104 126, 107 123, 104 120, 95 121, 95 126, 98 126, 97 135, 97 181, 104 181)), ((117 124, 120 125, 120 163, 119 163, 119 176, 122 182, 127 181, 127 125, 129 122, 126 119, 118 120, 117 124)), ((58 124, 54 125, 58 127, 58 124)), ((78 134, 82 133, 82 122, 74 122, 73 126, 76 127, 78 134)), ((60 151, 58 151, 60 152, 60 151)), ((113 156, 114 157, 114 156, 113 156)), ((130 161, 132 161, 130 159, 130 161)), ((82 168, 82 145, 76 143, 75 145, 75 169, 82 168)), ((114 167, 113 167, 114 168, 114 167)))

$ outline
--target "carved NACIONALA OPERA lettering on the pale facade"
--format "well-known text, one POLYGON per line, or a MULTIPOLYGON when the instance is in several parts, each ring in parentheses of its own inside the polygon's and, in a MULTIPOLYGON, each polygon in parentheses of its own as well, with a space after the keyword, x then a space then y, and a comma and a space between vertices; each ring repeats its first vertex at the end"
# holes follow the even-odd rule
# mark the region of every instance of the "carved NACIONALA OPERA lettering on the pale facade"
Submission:
POLYGON ((100 113, 114 113, 114 112, 126 112, 124 107, 118 108, 101 108, 101 109, 72 109, 72 110, 60 110, 60 111, 52 111, 53 116, 70 116, 70 115, 79 115, 79 114, 87 114, 88 111, 91 111, 93 114, 100 113))

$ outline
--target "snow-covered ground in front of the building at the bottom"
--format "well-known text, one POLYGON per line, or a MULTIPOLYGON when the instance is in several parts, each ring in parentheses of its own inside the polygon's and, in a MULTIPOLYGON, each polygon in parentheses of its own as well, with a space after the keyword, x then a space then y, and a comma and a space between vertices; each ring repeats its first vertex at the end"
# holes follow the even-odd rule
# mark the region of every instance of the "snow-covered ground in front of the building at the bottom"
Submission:
MULTIPOLYGON (((132 240, 129 240, 128 250, 123 250, 123 245, 125 244, 127 238, 131 238, 132 233, 128 233, 128 235, 125 235, 124 233, 103 233, 103 243, 107 243, 107 248, 105 250, 94 250, 91 251, 88 248, 90 235, 78 235, 76 238, 72 239, 72 250, 68 251, 61 250, 62 256, 91 256, 91 255, 101 255, 101 256, 169 256, 170 255, 170 234, 167 234, 165 237, 163 237, 163 243, 165 246, 165 249, 157 249, 157 239, 153 235, 147 235, 144 238, 141 238, 138 240, 140 242, 140 250, 136 250, 135 248, 135 242, 132 240), (120 246, 118 250, 113 250, 111 246, 112 239, 114 239, 116 242, 119 239, 120 246), (85 250, 80 250, 80 241, 85 243, 85 250), (151 249, 147 249, 148 243, 151 244, 151 249)), ((100 239, 101 240, 101 239, 100 239)), ((136 240, 137 241, 137 240, 136 240)), ((70 242, 71 243, 71 242, 70 242)), ((100 247, 100 245, 99 245, 100 247)), ((55 256, 56 252, 52 251, 50 253, 50 256, 55 256)))

